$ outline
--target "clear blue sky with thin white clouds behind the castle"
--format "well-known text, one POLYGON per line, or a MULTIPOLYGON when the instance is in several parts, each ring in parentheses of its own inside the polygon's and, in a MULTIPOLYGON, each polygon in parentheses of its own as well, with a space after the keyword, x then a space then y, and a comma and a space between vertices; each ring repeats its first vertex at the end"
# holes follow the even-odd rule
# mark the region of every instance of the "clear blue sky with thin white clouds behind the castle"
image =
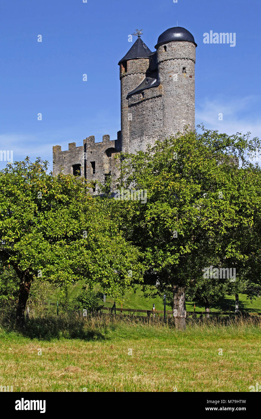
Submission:
POLYGON ((0 0, 0 150, 13 150, 13 160, 40 156, 52 169, 53 145, 115 140, 129 34, 142 28, 154 51, 177 21, 198 44, 196 123, 260 137, 260 17, 257 0, 0 0), (235 47, 204 44, 210 31, 235 33, 235 47))

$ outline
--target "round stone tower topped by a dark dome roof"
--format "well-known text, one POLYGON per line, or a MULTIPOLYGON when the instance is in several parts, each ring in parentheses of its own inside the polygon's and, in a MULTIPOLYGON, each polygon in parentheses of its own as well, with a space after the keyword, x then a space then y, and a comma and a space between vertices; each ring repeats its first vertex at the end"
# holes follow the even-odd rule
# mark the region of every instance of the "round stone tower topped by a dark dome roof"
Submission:
POLYGON ((163 32, 155 46, 165 137, 183 132, 186 125, 195 128, 196 46, 194 36, 178 26, 163 32))

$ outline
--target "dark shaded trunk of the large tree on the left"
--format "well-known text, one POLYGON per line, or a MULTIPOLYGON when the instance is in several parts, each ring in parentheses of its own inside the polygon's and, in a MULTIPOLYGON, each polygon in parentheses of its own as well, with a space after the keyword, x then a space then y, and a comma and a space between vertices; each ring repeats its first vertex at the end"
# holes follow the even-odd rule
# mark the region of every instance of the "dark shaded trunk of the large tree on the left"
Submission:
POLYGON ((20 328, 25 328, 25 317, 24 312, 26 309, 26 303, 28 300, 28 295, 32 282, 32 275, 30 275, 29 270, 26 269, 24 272, 19 272, 20 278, 20 287, 18 295, 18 304, 16 307, 16 324, 20 328))

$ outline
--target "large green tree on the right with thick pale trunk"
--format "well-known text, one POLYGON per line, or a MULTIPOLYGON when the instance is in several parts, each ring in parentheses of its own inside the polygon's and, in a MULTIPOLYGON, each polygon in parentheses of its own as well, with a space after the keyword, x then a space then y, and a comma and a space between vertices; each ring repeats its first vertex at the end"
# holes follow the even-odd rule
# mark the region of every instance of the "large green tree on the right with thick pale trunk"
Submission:
MULTIPOLYGON (((189 132, 145 152, 123 155, 123 200, 114 206, 125 237, 147 266, 145 283, 159 295, 172 292, 177 328, 186 327, 185 292, 207 266, 236 268, 237 280, 259 272, 261 170, 247 155, 260 148, 249 135, 189 132), (240 166, 238 165, 240 161, 240 166), (147 202, 127 189, 147 190, 147 202)), ((258 275, 256 275, 258 278, 258 275)), ((217 279, 217 282, 219 279, 217 279)))

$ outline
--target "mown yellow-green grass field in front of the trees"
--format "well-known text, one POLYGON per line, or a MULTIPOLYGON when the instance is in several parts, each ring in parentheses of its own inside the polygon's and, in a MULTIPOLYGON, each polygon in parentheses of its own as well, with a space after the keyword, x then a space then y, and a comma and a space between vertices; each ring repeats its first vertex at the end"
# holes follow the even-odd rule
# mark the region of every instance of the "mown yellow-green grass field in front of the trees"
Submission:
POLYGON ((181 332, 159 323, 61 316, 32 319, 25 334, 2 324, 0 385, 13 391, 248 392, 261 384, 261 327, 238 322, 194 324, 181 332))

